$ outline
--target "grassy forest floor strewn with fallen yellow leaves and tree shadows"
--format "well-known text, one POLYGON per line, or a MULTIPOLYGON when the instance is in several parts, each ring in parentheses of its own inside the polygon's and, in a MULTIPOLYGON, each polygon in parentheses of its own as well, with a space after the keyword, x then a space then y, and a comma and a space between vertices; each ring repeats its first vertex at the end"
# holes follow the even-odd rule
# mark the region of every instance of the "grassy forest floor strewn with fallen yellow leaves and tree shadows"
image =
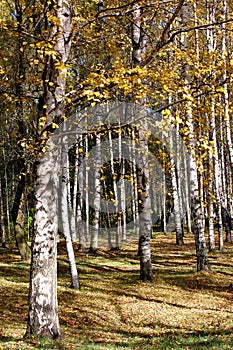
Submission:
POLYGON ((72 290, 59 243, 58 299, 62 340, 24 339, 29 264, 0 250, 0 349, 233 349, 233 245, 209 255, 196 273, 193 236, 151 241, 154 281, 138 280, 137 244, 123 251, 78 252, 81 289, 72 290))

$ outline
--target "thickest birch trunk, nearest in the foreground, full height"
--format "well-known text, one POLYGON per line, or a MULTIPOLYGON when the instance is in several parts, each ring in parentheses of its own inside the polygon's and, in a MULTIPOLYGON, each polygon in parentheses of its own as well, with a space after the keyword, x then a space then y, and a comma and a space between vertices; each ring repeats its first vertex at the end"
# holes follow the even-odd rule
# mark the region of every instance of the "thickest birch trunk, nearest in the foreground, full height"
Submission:
MULTIPOLYGON (((41 131, 42 136, 44 130, 52 131, 53 123, 61 122, 64 116, 72 12, 69 0, 56 0, 52 3, 48 1, 45 9, 46 23, 49 25, 46 28, 49 33, 48 41, 53 42, 54 47, 50 50, 52 53, 46 56, 44 69, 43 106, 47 108, 43 113, 46 120, 41 131)), ((59 149, 51 142, 37 166, 26 335, 34 334, 52 339, 61 336, 57 302, 58 172, 59 149)))

